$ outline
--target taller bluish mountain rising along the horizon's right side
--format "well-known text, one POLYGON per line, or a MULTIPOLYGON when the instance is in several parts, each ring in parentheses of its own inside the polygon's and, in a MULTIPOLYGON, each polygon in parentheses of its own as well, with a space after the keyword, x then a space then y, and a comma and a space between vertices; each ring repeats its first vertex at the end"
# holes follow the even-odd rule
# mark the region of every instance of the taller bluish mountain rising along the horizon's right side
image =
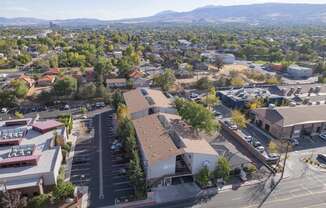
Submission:
POLYGON ((319 24, 326 23, 326 4, 252 4, 206 6, 189 12, 159 13, 124 22, 208 22, 249 24, 319 24))

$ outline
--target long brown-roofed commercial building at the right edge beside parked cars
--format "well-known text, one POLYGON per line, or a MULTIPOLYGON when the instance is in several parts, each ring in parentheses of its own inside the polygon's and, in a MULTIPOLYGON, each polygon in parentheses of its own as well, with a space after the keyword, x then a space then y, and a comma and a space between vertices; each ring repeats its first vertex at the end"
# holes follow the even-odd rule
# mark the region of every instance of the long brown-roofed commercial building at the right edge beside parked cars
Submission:
POLYGON ((279 139, 314 136, 326 131, 326 105, 269 107, 254 110, 255 122, 279 139))

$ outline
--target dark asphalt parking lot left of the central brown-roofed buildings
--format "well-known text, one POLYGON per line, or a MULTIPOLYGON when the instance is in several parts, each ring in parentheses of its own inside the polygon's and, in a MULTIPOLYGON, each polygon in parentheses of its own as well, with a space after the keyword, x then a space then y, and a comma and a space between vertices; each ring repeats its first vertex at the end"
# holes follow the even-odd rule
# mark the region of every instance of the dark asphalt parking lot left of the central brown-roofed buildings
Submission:
POLYGON ((89 159, 84 158, 85 162, 74 165, 77 167, 75 172, 78 172, 79 177, 76 176, 76 179, 72 177, 72 180, 77 180, 76 184, 85 185, 85 181, 88 182, 91 207, 127 201, 132 198, 134 190, 127 176, 129 159, 122 149, 111 148, 115 140, 113 111, 96 115, 93 123, 95 134, 92 143, 77 145, 80 146, 81 152, 80 154, 77 152, 76 158, 86 156, 89 159), (80 180, 80 175, 84 175, 83 180, 80 180))

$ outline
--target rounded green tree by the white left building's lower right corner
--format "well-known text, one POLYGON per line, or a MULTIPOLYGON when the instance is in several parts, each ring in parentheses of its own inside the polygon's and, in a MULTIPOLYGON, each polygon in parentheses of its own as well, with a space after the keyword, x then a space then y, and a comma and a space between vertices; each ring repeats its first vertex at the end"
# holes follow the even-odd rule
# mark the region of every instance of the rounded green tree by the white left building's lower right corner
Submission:
POLYGON ((59 181, 53 190, 55 201, 60 202, 67 198, 74 197, 75 186, 70 182, 59 181))

